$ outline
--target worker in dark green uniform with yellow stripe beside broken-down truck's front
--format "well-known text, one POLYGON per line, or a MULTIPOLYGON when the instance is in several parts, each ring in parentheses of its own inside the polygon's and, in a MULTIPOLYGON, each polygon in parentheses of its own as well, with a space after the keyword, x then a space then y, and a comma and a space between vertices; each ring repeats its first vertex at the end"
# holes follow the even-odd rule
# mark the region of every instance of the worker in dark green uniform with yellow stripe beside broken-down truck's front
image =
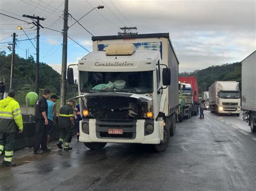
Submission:
POLYGON ((75 128, 75 119, 73 115, 73 105, 74 101, 68 101, 68 104, 64 105, 59 110, 59 127, 60 127, 60 136, 59 143, 57 146, 62 149, 62 144, 64 143, 64 150, 72 150, 70 147, 73 130, 75 128))

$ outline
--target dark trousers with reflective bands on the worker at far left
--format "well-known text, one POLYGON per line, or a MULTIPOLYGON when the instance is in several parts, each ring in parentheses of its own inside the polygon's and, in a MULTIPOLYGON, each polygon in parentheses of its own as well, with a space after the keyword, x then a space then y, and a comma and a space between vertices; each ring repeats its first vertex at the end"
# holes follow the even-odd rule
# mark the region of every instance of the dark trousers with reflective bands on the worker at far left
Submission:
POLYGON ((16 133, 0 132, 0 154, 4 151, 4 161, 11 162, 14 155, 16 133))

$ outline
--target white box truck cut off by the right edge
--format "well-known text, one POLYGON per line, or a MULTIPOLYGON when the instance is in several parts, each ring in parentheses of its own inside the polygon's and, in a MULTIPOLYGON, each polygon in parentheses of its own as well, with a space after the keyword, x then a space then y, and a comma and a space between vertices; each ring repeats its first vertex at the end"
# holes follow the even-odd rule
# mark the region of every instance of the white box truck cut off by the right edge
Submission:
POLYGON ((242 60, 242 111, 244 121, 256 132, 256 51, 242 60))

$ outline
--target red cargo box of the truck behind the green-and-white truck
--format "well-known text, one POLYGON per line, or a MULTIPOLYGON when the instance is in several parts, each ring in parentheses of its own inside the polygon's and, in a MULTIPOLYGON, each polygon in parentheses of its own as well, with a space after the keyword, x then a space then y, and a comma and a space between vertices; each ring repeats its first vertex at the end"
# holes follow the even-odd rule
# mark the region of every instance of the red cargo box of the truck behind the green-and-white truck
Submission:
POLYGON ((187 77, 179 77, 179 81, 181 83, 190 83, 192 87, 192 95, 193 95, 193 107, 192 107, 192 115, 198 115, 199 107, 198 107, 198 85, 197 79, 194 76, 187 77))

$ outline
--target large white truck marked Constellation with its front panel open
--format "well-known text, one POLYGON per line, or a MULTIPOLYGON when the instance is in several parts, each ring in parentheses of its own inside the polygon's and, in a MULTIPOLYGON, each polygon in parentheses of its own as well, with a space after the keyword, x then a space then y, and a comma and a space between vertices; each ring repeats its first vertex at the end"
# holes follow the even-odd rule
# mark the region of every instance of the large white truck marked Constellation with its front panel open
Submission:
MULTIPOLYGON (((176 129, 178 67, 169 33, 92 37, 78 61, 79 142, 151 144, 165 151, 176 129)), ((73 83, 68 68, 68 81, 73 83)))

